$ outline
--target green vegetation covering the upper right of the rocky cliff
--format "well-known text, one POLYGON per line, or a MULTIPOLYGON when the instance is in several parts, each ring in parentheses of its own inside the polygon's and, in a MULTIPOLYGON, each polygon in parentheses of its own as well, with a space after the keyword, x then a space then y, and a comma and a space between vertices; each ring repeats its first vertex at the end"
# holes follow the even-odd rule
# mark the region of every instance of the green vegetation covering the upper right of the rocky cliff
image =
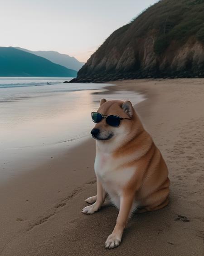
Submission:
POLYGON ((164 52, 172 40, 185 43, 190 36, 204 43, 204 0, 165 2, 159 3, 159 9, 154 8, 158 19, 156 24, 152 20, 152 28, 158 33, 155 52, 164 52))

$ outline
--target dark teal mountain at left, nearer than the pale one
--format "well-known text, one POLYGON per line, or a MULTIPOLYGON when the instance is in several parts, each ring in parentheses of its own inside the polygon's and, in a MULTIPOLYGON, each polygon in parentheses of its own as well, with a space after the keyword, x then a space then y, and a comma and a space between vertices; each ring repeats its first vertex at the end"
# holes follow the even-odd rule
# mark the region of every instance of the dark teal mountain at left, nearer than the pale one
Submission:
POLYGON ((14 47, 0 47, 0 77, 76 77, 77 71, 14 47))

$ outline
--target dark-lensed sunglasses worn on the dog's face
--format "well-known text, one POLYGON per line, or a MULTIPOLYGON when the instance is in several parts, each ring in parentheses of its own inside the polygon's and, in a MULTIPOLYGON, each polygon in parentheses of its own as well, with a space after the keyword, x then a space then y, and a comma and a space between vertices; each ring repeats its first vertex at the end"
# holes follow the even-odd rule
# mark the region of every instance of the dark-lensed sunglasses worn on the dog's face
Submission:
POLYGON ((118 116, 114 116, 114 115, 102 115, 100 113, 97 113, 97 112, 92 112, 92 120, 94 123, 100 123, 103 119, 106 119, 106 123, 110 126, 114 126, 114 127, 117 127, 120 125, 121 123, 121 120, 122 119, 129 119, 130 118, 121 118, 121 117, 118 117, 118 116))

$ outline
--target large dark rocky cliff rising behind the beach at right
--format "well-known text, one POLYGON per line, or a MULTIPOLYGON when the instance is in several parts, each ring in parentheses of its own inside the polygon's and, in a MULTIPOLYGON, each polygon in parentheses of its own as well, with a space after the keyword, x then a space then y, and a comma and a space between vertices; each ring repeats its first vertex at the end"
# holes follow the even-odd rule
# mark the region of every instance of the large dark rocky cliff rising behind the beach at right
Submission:
POLYGON ((204 77, 204 1, 163 0, 113 32, 72 82, 204 77))

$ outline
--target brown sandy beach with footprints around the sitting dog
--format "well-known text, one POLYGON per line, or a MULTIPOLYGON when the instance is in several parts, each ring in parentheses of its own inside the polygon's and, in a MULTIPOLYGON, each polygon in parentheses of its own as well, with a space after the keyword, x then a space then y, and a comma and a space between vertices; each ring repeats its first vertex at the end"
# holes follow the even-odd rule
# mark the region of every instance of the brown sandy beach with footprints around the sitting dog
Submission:
POLYGON ((0 255, 203 255, 204 79, 114 83, 111 90, 146 95, 135 108, 167 163, 170 204, 134 215, 121 246, 106 250, 117 209, 81 213, 96 193, 95 142, 88 139, 0 187, 0 255))

